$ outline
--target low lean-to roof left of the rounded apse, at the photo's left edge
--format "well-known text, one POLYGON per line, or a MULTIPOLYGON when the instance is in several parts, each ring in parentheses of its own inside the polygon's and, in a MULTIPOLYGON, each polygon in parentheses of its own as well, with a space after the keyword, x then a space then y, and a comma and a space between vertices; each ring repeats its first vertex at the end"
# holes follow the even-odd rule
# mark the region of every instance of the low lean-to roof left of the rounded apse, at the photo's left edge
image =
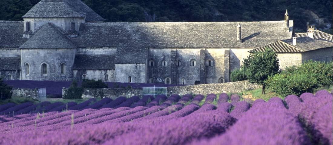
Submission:
POLYGON ((0 70, 21 70, 21 58, 0 57, 0 70))

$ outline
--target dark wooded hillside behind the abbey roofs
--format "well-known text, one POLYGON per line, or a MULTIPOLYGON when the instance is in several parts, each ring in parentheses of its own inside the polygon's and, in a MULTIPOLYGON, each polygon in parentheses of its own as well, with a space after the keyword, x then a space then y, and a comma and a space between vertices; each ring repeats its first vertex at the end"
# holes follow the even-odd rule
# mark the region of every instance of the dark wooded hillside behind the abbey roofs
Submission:
MULTIPOLYGON (((22 21, 39 0, 1 0, 0 20, 22 21)), ((296 32, 306 22, 332 34, 332 0, 83 0, 106 22, 215 22, 283 20, 296 32)))

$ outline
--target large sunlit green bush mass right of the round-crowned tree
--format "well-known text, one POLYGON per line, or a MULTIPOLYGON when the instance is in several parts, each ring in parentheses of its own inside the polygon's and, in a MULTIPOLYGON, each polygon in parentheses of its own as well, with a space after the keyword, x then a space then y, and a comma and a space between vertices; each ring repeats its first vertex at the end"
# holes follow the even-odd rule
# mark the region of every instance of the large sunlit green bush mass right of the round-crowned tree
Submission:
POLYGON ((281 97, 300 96, 332 84, 332 63, 308 61, 299 67, 287 67, 280 74, 269 77, 266 83, 281 97))

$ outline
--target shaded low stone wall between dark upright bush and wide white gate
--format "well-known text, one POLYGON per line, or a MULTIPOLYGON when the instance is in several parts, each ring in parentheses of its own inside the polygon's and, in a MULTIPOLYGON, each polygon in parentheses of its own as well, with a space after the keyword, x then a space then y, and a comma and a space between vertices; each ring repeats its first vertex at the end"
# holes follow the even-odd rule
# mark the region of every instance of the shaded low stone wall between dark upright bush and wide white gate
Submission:
POLYGON ((107 88, 107 89, 84 89, 82 98, 108 97, 116 99, 120 96, 130 98, 132 96, 142 96, 142 88, 107 88))

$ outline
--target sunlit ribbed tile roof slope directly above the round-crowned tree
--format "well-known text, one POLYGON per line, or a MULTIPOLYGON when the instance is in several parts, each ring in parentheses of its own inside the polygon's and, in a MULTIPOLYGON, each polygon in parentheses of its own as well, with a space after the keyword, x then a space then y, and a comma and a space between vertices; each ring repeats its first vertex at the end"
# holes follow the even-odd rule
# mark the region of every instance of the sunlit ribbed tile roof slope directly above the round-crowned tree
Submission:
POLYGON ((281 40, 275 41, 274 43, 257 47, 252 49, 248 52, 265 52, 266 48, 271 48, 276 53, 283 53, 283 52, 302 52, 302 50, 297 49, 295 46, 285 43, 281 40))

